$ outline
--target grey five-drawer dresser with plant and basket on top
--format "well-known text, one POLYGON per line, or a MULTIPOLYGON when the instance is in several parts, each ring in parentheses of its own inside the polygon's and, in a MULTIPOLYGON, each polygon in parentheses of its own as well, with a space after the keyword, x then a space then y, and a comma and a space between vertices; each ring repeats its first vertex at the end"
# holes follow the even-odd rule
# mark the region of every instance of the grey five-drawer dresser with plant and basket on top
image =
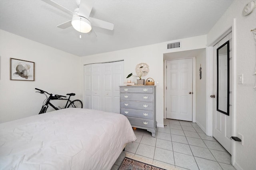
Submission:
POLYGON ((156 86, 120 86, 120 113, 156 137, 156 86))

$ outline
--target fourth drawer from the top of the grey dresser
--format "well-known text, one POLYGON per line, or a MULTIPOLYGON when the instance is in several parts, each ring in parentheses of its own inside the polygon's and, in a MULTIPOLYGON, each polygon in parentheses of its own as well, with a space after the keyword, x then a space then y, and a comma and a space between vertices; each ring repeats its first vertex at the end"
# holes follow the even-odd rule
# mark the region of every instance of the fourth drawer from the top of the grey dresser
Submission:
POLYGON ((121 114, 131 117, 153 119, 153 111, 121 108, 121 114))

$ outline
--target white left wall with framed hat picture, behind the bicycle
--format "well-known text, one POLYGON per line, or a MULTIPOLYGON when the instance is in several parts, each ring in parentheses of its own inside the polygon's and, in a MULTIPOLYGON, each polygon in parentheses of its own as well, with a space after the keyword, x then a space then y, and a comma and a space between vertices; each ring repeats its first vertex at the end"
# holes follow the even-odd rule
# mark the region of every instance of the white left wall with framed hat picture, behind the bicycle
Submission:
POLYGON ((38 114, 45 97, 35 88, 82 99, 79 57, 3 30, 0 37, 1 123, 38 114), (35 62, 35 81, 10 80, 10 58, 35 62))

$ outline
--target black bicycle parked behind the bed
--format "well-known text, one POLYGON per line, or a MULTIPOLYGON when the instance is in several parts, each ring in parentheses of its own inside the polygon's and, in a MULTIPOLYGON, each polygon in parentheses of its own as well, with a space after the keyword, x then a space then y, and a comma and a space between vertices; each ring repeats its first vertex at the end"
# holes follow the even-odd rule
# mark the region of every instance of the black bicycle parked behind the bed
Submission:
POLYGON ((50 93, 48 93, 44 90, 40 90, 38 88, 35 88, 35 89, 40 91, 38 93, 44 94, 46 96, 46 100, 44 100, 44 104, 43 104, 42 109, 40 110, 39 114, 45 113, 46 110, 48 109, 49 105, 52 106, 52 108, 54 108, 55 110, 65 109, 65 108, 68 108, 68 107, 83 108, 83 103, 82 103, 81 100, 73 100, 73 101, 70 100, 71 96, 76 95, 74 93, 66 94, 66 95, 69 96, 69 98, 64 99, 64 98, 66 98, 66 96, 61 96, 61 95, 58 95, 58 94, 50 94, 50 93), (48 94, 49 96, 47 97, 46 94, 48 94), (50 103, 51 100, 67 100, 67 103, 66 103, 64 108, 61 108, 61 107, 58 108, 58 107, 55 107, 53 104, 50 103), (68 105, 68 102, 69 102, 69 105, 68 105))

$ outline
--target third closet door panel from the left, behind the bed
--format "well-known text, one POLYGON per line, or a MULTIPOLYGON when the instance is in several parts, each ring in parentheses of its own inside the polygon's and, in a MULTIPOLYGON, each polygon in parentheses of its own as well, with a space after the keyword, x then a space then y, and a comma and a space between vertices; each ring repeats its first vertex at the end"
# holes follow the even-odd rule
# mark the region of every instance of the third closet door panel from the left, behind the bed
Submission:
POLYGON ((113 106, 113 64, 102 63, 102 110, 112 112, 113 106))

